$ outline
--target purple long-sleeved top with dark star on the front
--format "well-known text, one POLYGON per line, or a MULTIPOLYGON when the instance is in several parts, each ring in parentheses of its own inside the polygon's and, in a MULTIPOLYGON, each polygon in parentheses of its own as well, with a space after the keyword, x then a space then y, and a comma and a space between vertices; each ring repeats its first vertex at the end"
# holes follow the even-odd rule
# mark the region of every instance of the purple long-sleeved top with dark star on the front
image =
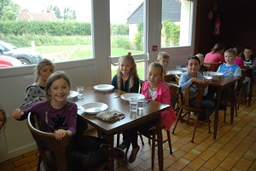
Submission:
POLYGON ((38 117, 38 123, 42 131, 54 133, 55 130, 63 128, 70 130, 73 135, 76 134, 78 106, 67 101, 67 104, 61 109, 53 108, 49 100, 39 101, 32 107, 24 110, 21 120, 26 119, 29 112, 34 113, 38 117))

